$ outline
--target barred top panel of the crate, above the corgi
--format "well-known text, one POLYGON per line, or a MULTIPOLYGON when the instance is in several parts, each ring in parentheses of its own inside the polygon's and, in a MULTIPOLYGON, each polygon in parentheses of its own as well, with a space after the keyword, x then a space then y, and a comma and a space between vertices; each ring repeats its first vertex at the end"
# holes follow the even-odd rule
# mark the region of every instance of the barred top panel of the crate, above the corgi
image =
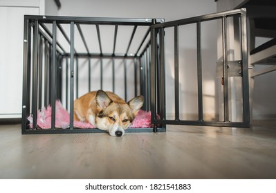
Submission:
POLYGON ((164 19, 60 17, 25 15, 30 26, 39 25, 39 32, 53 42, 53 23, 57 28, 57 46, 70 54, 71 26, 74 26, 74 52, 79 57, 136 57, 149 45, 150 26, 164 19), (37 24, 35 24, 37 23, 37 24))

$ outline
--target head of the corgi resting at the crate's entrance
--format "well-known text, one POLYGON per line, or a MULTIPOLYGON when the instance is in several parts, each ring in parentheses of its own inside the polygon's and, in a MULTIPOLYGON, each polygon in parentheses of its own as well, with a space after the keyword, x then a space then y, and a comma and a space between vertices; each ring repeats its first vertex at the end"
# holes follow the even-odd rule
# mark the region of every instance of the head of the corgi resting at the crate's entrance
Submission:
POLYGON ((108 130, 111 136, 123 136, 144 103, 143 96, 128 103, 112 101, 102 90, 98 90, 95 98, 98 108, 95 124, 100 130, 108 130))

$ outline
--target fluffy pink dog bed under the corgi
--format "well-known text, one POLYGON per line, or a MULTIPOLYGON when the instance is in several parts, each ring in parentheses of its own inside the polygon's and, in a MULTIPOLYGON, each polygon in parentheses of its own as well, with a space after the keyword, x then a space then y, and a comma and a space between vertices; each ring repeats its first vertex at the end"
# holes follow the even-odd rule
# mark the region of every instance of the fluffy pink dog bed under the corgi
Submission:
MULTIPOLYGON (((48 105, 47 108, 42 108, 37 112, 37 128, 50 129, 51 128, 51 114, 52 108, 48 105)), ((28 116, 28 121, 30 121, 30 128, 33 128, 33 115, 28 116)), ((55 128, 66 129, 69 127, 70 115, 66 109, 62 106, 60 101, 55 102, 55 128)), ((74 121, 74 128, 95 128, 94 125, 90 123, 84 123, 81 121, 74 121)), ((145 112, 144 110, 139 110, 134 121, 129 126, 129 128, 152 128, 151 124, 151 112, 145 112)))

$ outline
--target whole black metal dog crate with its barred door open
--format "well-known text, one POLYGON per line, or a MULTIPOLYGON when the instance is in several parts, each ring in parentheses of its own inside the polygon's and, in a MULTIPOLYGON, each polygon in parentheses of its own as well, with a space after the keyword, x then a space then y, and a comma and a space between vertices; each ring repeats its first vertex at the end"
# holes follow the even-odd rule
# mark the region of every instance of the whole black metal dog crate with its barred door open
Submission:
MULTIPOLYGON (((231 65, 232 66, 232 65, 231 65)), ((232 68, 231 68, 232 69, 232 68)), ((73 101, 86 90, 103 89, 129 97, 142 94, 145 97, 143 110, 151 111, 153 128, 129 128, 126 132, 165 132, 167 124, 214 125, 230 127, 247 127, 249 125, 248 99, 248 60, 246 45, 246 10, 231 10, 215 14, 203 15, 189 19, 165 22, 164 19, 122 19, 94 17, 53 17, 26 15, 24 19, 24 76, 23 76, 22 134, 41 133, 75 133, 105 132, 98 129, 80 129, 73 127, 73 101), (234 17, 238 26, 241 59, 229 61, 227 54, 226 21, 234 17), (220 69, 223 71, 223 121, 204 121, 202 105, 202 65, 201 61, 201 23, 210 20, 221 21, 223 56, 220 69), (178 27, 190 23, 196 24, 196 56, 198 84, 198 120, 181 120, 179 117, 179 74, 178 74, 178 27), (87 27, 89 26, 89 27, 87 27), (93 33, 87 35, 84 28, 93 27, 93 33), (107 29, 105 29, 109 26, 107 29), (118 51, 120 29, 127 26, 130 36, 124 39, 125 51, 118 51), (143 28, 143 30, 140 30, 143 28), (175 117, 166 116, 167 85, 165 77, 165 30, 174 29, 174 104, 175 117), (109 51, 104 47, 104 29, 109 32, 109 51), (140 31, 142 32, 140 32, 140 31), (139 31, 140 39, 136 39, 139 31), (91 37, 95 41, 88 41, 91 37), (63 41, 60 41, 63 39, 63 41), (136 43, 134 43, 136 39, 136 43), (82 42, 82 49, 75 48, 76 42, 82 42), (138 43, 137 43, 138 42, 138 43), (64 43, 67 45, 64 45, 64 43), (92 44, 92 45, 91 45, 92 44), (98 45, 98 50, 91 49, 98 45), (66 46, 68 47, 66 49, 66 46), (131 52, 131 49, 135 50, 131 52), (81 50, 81 51, 79 51, 81 50), (91 72, 93 60, 97 61, 98 71, 95 80, 91 72), (85 61, 85 62, 84 62, 85 61), (121 75, 116 72, 116 63, 121 63, 121 75), (109 77, 104 77, 109 63, 109 77), (228 68, 230 63, 239 63, 240 77, 243 87, 243 120, 232 122, 229 119, 228 68), (84 66, 86 70, 81 69, 84 66), (131 68, 131 74, 128 70, 131 68), (85 72, 86 71, 86 72, 85 72), (83 73, 85 72, 85 76, 83 73), (133 73, 133 74, 132 74, 133 73), (85 77, 85 78, 84 78, 85 77), (120 77, 120 84, 116 81, 120 77), (83 82, 86 80, 86 84, 83 82), (120 88, 120 89, 118 89, 120 88), (130 93, 131 90, 131 93, 130 93), (70 114, 70 123, 66 129, 55 128, 55 101, 60 100, 70 114), (34 126, 30 128, 27 117, 33 116, 33 125, 37 123, 37 111, 50 105, 52 108, 51 127, 42 130, 34 126)), ((122 97, 122 98, 124 98, 122 97)))

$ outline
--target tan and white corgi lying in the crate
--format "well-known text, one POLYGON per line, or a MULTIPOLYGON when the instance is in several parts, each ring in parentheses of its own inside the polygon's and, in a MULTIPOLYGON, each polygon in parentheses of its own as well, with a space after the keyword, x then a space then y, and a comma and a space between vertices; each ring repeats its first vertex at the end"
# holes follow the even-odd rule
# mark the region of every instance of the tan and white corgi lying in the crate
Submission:
POLYGON ((123 136, 143 103, 143 96, 126 103, 113 92, 91 91, 75 99, 74 121, 91 123, 111 136, 123 136))

